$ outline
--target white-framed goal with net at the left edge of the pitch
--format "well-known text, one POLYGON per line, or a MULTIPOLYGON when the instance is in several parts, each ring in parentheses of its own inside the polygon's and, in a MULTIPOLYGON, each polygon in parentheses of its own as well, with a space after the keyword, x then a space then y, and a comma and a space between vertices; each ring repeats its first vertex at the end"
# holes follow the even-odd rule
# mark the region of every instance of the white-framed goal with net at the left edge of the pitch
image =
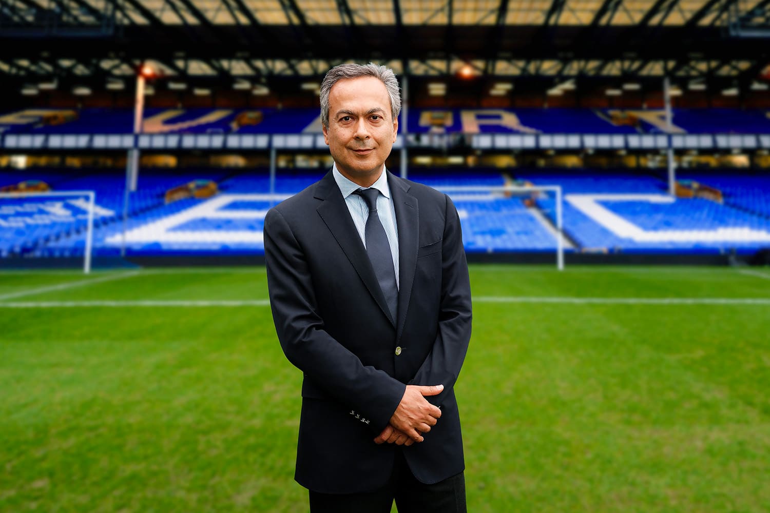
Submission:
POLYGON ((95 192, 0 192, 0 258, 82 258, 91 271, 95 192))

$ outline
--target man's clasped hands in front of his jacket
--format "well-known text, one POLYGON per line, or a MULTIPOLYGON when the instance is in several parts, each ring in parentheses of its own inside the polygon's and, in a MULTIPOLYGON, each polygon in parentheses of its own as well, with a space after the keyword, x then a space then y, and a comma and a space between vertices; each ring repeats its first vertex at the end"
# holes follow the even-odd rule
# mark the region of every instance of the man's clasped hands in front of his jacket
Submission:
POLYGON ((423 441, 422 433, 430 431, 441 416, 441 410, 431 405, 424 396, 438 395, 444 385, 407 385, 396 411, 390 417, 390 424, 374 438, 376 444, 396 444, 409 447, 416 441, 423 441))

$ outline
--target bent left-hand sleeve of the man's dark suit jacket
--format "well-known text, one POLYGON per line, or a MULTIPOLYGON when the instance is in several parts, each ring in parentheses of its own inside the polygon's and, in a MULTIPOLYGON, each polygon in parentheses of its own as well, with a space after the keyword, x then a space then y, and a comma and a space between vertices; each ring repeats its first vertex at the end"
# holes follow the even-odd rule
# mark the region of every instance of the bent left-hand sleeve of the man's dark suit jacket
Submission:
POLYGON ((331 398, 370 419, 370 428, 379 433, 406 385, 363 365, 324 330, 306 255, 275 208, 265 217, 264 234, 270 308, 286 358, 331 398))

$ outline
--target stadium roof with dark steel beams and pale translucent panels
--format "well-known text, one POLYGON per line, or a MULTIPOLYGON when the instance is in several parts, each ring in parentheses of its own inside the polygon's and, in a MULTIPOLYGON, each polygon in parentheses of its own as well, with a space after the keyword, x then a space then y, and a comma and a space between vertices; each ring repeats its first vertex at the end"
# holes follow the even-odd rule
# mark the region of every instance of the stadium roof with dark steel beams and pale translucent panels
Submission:
POLYGON ((229 84, 375 61, 522 82, 684 78, 748 86, 770 0, 5 0, 0 81, 105 87, 151 62, 229 84))

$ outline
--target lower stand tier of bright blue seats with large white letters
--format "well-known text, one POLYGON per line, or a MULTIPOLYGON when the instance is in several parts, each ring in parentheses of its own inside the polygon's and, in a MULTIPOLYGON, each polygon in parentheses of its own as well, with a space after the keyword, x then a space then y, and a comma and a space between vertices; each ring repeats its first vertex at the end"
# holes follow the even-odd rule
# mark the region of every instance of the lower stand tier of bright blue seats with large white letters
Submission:
MULTIPOLYGON (((322 174, 282 169, 271 190, 266 169, 144 171, 129 195, 125 235, 125 178, 119 173, 4 172, 0 187, 41 181, 56 192, 95 191, 96 256, 119 255, 124 245, 129 255, 261 255, 267 210, 322 174)), ((504 175, 492 168, 417 168, 410 178, 453 198, 469 253, 556 251, 555 196, 499 191, 512 184, 561 186, 567 252, 724 254, 770 247, 770 179, 735 171, 682 176, 719 197, 672 198, 661 178, 627 170, 519 169, 504 175)), ((86 212, 84 198, 0 198, 0 255, 82 255, 86 212)))

